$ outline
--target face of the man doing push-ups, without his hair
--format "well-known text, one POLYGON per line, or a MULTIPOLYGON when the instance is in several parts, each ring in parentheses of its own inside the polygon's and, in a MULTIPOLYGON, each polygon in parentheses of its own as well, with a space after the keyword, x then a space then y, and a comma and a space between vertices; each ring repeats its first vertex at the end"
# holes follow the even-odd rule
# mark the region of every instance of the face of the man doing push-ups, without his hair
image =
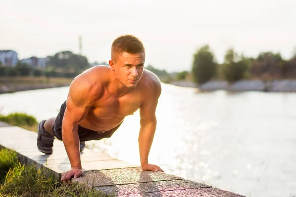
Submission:
POLYGON ((144 71, 145 54, 130 54, 123 52, 116 54, 114 66, 115 75, 120 83, 127 88, 135 88, 144 71))

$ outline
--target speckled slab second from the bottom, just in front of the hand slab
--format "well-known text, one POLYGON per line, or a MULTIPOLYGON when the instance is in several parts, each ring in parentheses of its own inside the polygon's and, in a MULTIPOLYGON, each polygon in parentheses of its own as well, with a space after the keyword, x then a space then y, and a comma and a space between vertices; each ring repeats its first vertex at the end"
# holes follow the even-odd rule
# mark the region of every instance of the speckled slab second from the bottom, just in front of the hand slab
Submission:
POLYGON ((169 190, 184 190, 193 188, 210 188, 211 186, 189 180, 155 181, 137 184, 114 185, 95 187, 106 194, 128 195, 138 193, 151 193, 169 190))

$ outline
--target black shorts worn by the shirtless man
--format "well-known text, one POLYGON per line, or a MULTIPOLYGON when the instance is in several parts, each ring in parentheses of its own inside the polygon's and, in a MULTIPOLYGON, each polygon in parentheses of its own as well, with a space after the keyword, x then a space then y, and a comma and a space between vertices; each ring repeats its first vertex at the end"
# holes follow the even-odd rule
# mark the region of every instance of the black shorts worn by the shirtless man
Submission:
MULTIPOLYGON (((65 110, 66 110, 66 101, 62 104, 61 110, 52 126, 52 131, 54 133, 54 136, 59 140, 63 140, 62 139, 62 122, 63 122, 65 110)), ((78 135, 79 135, 80 142, 89 141, 89 140, 100 140, 103 138, 111 137, 114 134, 114 132, 119 128, 121 123, 116 127, 114 127, 113 129, 105 132, 93 131, 90 129, 83 128, 79 125, 78 135)))

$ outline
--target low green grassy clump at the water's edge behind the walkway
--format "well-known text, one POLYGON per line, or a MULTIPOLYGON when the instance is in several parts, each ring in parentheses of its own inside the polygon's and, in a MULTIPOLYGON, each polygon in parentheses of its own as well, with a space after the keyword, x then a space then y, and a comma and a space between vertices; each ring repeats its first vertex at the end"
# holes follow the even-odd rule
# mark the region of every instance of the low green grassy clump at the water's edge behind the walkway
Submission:
POLYGON ((36 118, 25 113, 12 113, 7 116, 0 115, 0 121, 19 127, 37 124, 36 118))

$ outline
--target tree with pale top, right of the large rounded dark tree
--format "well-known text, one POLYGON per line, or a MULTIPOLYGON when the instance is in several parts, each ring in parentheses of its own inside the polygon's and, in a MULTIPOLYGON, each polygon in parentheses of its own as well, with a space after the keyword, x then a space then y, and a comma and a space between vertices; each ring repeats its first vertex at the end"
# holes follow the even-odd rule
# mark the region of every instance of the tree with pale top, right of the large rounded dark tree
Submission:
POLYGON ((233 49, 229 49, 225 54, 225 61, 223 65, 224 78, 232 83, 244 77, 248 70, 248 59, 239 56, 233 49))

